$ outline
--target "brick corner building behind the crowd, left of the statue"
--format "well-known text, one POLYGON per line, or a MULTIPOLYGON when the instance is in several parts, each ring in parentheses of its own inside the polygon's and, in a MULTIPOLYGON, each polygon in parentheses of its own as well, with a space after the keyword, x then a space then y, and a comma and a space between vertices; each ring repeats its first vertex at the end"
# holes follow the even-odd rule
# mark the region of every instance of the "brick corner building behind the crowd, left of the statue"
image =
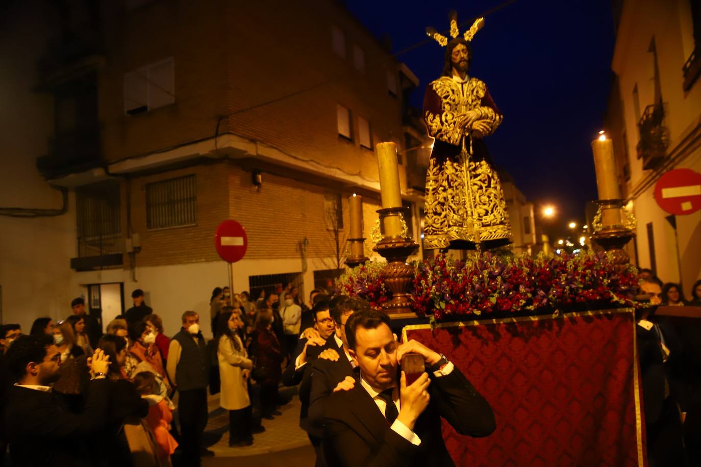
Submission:
MULTIPOLYGON (((76 3, 62 19, 50 11, 25 17, 50 25, 32 48, 39 74, 24 77, 32 83, 26 95, 46 101, 50 140, 43 153, 18 148, 22 159, 6 167, 36 158, 41 189, 68 191, 67 212, 45 221, 46 237, 61 239, 51 261, 62 263, 64 284, 59 296, 37 298, 50 303, 48 314, 64 317, 82 293, 107 321, 142 288, 175 333, 184 310, 206 315, 212 288, 228 281, 213 242, 228 218, 249 239, 233 267, 235 291, 290 279, 308 295, 343 260, 329 222, 341 214, 343 256, 353 193, 363 195, 369 236, 380 141, 397 143, 402 191, 418 216, 414 181, 423 174, 407 167, 421 172, 425 162, 404 151, 416 139, 405 110, 418 81, 341 4, 90 5, 76 3), (67 218, 75 230, 65 228, 67 218)), ((3 222, 18 229, 12 218, 3 222)), ((418 240, 420 222, 411 225, 418 240)), ((1 274, 15 321, 29 318, 14 284, 36 281, 33 270, 1 274)))

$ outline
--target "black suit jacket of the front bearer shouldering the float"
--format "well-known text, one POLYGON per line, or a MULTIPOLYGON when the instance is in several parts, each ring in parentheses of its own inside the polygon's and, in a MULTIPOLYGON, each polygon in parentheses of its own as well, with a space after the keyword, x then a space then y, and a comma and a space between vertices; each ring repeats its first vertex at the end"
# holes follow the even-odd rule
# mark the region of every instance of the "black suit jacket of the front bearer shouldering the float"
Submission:
POLYGON ((430 403, 418 417, 416 446, 390 428, 387 419, 360 383, 351 391, 326 398, 324 452, 329 466, 453 466, 441 433, 441 417, 462 435, 482 437, 494 432, 489 403, 458 370, 430 375, 430 403))

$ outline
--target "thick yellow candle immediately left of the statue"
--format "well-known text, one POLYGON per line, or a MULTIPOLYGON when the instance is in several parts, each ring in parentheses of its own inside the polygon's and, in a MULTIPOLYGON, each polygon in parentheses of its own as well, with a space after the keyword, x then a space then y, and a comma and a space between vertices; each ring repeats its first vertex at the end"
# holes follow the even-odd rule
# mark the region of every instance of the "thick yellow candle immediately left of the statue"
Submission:
MULTIPOLYGON (((377 165, 380 174, 380 197, 382 207, 402 207, 402 191, 399 184, 399 167, 397 167, 397 146, 389 141, 375 146, 377 165)), ((398 215, 383 219, 385 237, 400 237, 402 222, 398 215)))

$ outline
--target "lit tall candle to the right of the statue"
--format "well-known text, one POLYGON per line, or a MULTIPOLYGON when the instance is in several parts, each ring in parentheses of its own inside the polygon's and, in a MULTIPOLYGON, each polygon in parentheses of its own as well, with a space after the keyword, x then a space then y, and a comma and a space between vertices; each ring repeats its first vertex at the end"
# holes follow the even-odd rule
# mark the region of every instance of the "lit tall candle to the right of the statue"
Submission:
MULTIPOLYGON (((620 188, 618 186, 613 155, 613 141, 608 139, 604 132, 601 132, 601 136, 592 141, 592 151, 594 152, 594 168, 597 172, 599 200, 620 199, 620 188)), ((620 225, 621 222, 620 209, 601 210, 601 225, 604 228, 620 225)))

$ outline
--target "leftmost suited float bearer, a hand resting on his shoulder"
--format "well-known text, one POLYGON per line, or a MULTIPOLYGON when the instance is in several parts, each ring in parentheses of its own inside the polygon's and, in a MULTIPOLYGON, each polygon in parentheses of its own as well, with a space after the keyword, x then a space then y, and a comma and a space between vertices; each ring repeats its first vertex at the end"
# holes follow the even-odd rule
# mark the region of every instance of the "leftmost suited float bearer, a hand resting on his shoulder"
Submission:
POLYGON ((336 358, 338 358, 338 353, 334 350, 328 351, 329 349, 337 349, 336 342, 334 342, 332 337, 335 326, 334 320, 329 314, 328 300, 317 302, 312 312, 314 328, 305 330, 297 343, 297 349, 292 354, 292 363, 287 365, 283 373, 283 384, 285 386, 296 386, 299 384, 299 400, 301 402, 299 426, 308 433, 309 440, 317 453, 316 465, 322 466, 324 459, 321 451, 322 433, 320 429, 313 429, 308 420, 311 365, 320 354, 324 354, 325 358, 335 354, 336 358), (313 331, 313 333, 310 331, 313 331))

